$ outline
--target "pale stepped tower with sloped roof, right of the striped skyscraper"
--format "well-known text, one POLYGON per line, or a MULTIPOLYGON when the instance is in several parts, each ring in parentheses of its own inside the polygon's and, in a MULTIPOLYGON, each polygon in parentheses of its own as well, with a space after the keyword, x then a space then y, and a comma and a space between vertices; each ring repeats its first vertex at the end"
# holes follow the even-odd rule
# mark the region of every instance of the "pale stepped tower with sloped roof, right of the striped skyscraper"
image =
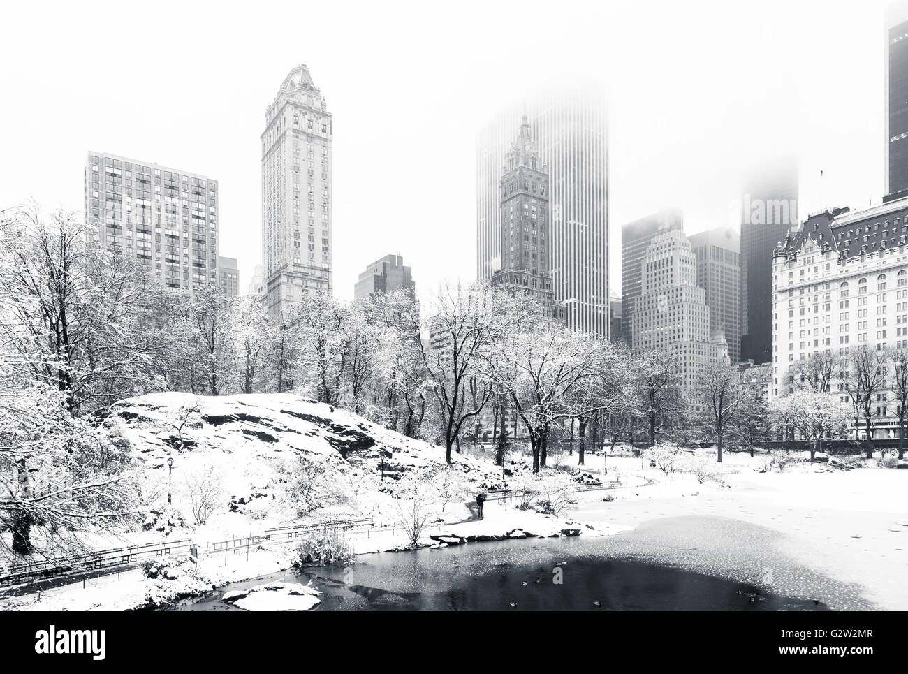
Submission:
POLYGON ((696 254, 684 233, 656 235, 641 263, 642 287, 634 301, 631 349, 657 350, 675 361, 678 387, 693 411, 703 411, 699 387, 706 369, 728 362, 725 334, 709 327, 706 291, 696 284, 696 254))

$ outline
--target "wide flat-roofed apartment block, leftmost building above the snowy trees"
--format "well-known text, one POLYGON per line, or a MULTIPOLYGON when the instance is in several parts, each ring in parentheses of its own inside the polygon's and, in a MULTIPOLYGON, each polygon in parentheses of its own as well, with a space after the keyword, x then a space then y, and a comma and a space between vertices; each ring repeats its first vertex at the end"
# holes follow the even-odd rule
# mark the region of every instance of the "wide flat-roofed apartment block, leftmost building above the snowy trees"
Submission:
POLYGON ((121 250, 170 288, 216 283, 218 183, 200 173, 88 153, 85 219, 95 241, 121 250))

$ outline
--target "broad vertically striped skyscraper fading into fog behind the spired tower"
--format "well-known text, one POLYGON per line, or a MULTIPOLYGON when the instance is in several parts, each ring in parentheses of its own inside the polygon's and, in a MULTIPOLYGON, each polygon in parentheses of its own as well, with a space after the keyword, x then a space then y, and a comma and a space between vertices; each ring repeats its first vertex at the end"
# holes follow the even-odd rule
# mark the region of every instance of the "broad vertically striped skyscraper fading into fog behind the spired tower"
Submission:
POLYGON ((548 264, 555 302, 564 302, 568 327, 607 337, 608 134, 605 94, 598 85, 528 98, 479 133, 477 276, 490 279, 503 266, 499 182, 522 114, 548 166, 548 264))

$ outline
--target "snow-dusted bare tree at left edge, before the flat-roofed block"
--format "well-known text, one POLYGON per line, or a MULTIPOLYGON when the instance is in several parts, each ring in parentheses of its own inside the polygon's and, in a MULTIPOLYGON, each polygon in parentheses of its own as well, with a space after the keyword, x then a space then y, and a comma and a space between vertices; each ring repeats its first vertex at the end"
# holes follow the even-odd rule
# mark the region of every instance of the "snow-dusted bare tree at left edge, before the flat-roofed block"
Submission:
POLYGON ((172 344, 149 312, 147 275, 91 241, 71 213, 0 218, 0 335, 8 363, 64 394, 71 414, 160 390, 172 344))

